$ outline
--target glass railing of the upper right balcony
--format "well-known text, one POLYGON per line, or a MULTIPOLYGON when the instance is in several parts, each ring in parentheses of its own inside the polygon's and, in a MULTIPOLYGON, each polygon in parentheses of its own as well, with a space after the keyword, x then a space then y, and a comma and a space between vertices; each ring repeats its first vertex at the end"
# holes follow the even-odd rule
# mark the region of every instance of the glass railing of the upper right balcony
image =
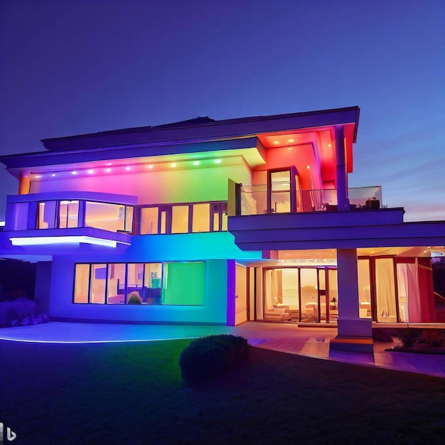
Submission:
MULTIPOLYGON (((301 213, 337 210, 335 189, 290 191, 288 184, 268 189, 266 184, 240 186, 238 214, 264 215, 268 213, 301 213)), ((350 210, 358 208, 378 209, 382 205, 382 188, 349 188, 350 210)))

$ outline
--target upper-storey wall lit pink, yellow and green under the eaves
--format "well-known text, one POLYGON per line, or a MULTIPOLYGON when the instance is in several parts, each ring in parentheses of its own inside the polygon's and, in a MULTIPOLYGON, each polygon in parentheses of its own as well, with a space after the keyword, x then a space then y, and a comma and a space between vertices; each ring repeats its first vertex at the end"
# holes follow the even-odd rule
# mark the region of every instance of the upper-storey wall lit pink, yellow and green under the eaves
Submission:
POLYGON ((184 203, 227 200, 227 179, 251 181, 250 168, 235 166, 196 170, 155 171, 111 176, 84 176, 52 181, 32 181, 31 193, 95 191, 138 197, 138 204, 184 203))

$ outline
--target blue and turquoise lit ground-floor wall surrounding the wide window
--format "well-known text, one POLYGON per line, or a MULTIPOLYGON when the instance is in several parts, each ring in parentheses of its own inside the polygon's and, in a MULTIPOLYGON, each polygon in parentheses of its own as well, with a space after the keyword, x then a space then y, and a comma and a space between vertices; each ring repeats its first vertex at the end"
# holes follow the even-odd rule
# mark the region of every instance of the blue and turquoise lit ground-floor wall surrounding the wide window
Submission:
MULTIPOLYGON (((227 305, 235 305, 235 269, 230 280, 230 258, 261 257, 261 252, 240 251, 228 232, 133 237, 124 254, 86 252, 54 257, 50 287, 50 316, 89 321, 132 321, 146 323, 227 323, 227 305), (227 259, 229 266, 227 266, 227 259), (205 262, 205 304, 203 306, 132 306, 74 304, 76 263, 205 262), (232 286, 232 287, 231 287, 232 286)), ((184 291, 187 291, 184 286, 184 291)), ((235 306, 232 310, 235 321, 235 306)))

